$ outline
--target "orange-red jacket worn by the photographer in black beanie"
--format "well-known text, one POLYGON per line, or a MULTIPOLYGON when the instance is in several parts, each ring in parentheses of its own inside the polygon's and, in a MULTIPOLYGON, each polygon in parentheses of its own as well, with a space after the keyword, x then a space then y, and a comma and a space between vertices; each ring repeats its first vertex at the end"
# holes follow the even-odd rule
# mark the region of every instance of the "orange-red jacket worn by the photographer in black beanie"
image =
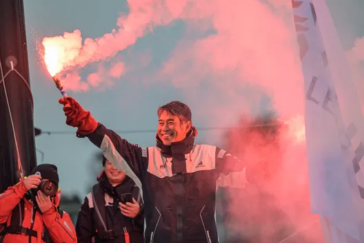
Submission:
POLYGON ((7 227, 3 243, 77 242, 70 215, 57 209, 60 190, 53 199, 54 206, 44 213, 34 210, 32 202, 26 200, 26 192, 22 181, 0 194, 0 224, 7 227))

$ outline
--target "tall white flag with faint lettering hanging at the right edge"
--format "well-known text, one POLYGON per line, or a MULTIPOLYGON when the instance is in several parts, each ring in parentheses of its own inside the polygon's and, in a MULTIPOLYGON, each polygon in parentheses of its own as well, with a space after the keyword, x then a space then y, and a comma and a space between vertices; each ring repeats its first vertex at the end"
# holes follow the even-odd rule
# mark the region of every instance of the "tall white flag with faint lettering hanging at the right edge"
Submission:
POLYGON ((360 103, 325 1, 292 0, 292 7, 305 79, 312 211, 321 215, 326 242, 364 242, 360 103))

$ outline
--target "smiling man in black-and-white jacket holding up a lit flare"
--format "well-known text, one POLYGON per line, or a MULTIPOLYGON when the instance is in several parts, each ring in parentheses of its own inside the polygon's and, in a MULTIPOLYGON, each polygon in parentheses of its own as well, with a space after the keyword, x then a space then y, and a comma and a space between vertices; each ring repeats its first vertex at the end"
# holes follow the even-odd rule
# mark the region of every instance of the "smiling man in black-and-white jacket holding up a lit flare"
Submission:
POLYGON ((66 124, 78 128, 77 136, 88 137, 142 188, 146 242, 219 242, 216 180, 242 171, 245 164, 216 146, 194 144, 197 130, 187 105, 172 101, 161 106, 156 146, 141 148, 98 123, 73 98, 59 103, 66 124))

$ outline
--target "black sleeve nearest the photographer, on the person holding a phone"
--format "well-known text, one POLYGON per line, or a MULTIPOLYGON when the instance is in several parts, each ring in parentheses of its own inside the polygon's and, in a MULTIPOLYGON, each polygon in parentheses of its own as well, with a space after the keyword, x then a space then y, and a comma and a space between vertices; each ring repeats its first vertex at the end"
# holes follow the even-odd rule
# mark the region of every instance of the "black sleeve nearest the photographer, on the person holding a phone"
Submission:
POLYGON ((77 240, 79 243, 91 243, 96 235, 92 212, 88 206, 88 197, 85 197, 76 222, 77 240))

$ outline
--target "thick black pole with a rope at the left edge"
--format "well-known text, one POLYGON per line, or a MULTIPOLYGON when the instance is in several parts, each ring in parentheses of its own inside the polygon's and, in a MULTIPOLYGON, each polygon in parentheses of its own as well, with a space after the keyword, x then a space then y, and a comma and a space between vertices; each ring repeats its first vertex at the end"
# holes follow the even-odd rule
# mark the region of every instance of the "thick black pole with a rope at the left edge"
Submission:
POLYGON ((0 62, 0 191, 4 191, 37 165, 22 0, 0 0, 0 62))

